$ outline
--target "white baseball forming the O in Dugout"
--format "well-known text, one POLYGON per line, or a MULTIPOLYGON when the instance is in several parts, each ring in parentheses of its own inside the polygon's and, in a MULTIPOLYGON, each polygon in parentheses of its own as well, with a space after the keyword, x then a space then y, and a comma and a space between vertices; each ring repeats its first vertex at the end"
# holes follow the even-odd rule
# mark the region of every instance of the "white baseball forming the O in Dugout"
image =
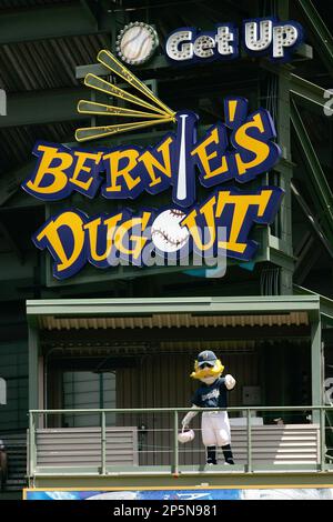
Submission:
POLYGON ((181 210, 164 210, 157 217, 151 228, 151 239, 154 245, 162 252, 176 252, 189 241, 188 227, 180 222, 186 214, 181 210))

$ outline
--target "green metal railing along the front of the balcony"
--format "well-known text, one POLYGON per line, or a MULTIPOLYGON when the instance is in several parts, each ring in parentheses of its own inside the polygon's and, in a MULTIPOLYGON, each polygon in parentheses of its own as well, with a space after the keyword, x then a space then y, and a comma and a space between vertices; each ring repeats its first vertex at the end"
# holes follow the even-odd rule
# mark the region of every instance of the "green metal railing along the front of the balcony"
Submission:
MULTIPOLYGON (((196 409, 195 410, 198 413, 201 412, 214 412, 214 411, 223 411, 219 408, 205 408, 205 409, 196 409)), ((108 450, 107 450, 107 434, 108 434, 108 426, 107 426, 107 415, 108 414, 130 414, 130 415, 143 415, 143 414, 169 414, 173 416, 173 420, 171 420, 169 429, 162 429, 160 431, 169 432, 171 436, 171 462, 168 466, 167 472, 171 474, 179 474, 182 472, 183 466, 180 464, 180 448, 179 448, 179 440, 178 440, 178 434, 181 430, 181 418, 180 414, 185 414, 189 412, 189 408, 137 408, 137 409, 81 409, 81 410, 30 410, 29 411, 29 438, 28 438, 28 451, 29 451, 29 461, 28 461, 28 475, 30 478, 34 476, 36 473, 41 473, 41 466, 38 465, 37 462, 37 433, 40 428, 44 425, 43 419, 50 418, 50 415, 79 415, 79 414, 99 414, 100 416, 100 463, 101 465, 99 469, 95 471, 97 474, 100 475, 107 475, 108 473, 112 472, 112 466, 107 464, 107 456, 108 456, 108 450), (110 471, 111 470, 111 471, 110 471)), ((270 416, 274 412, 279 412, 279 414, 283 413, 283 415, 302 415, 302 419, 309 420, 309 414, 312 418, 312 422, 304 422, 307 424, 313 424, 313 425, 319 425, 319 459, 315 464, 315 466, 312 466, 312 471, 319 471, 319 472, 333 472, 333 465, 332 465, 332 459, 327 455, 327 450, 333 452, 333 448, 327 448, 326 446, 326 431, 331 430, 332 426, 326 426, 325 422, 325 416, 326 412, 333 413, 333 406, 324 406, 324 405, 316 405, 316 406, 252 406, 252 408, 228 408, 229 413, 243 413, 243 419, 246 420, 245 423, 245 433, 246 433, 246 462, 245 465, 242 468, 241 471, 244 473, 252 473, 255 471, 253 469, 253 415, 252 413, 268 413, 270 416), (245 415, 244 415, 245 413, 245 415), (315 422, 314 422, 315 421, 315 422)), ((271 418, 272 422, 272 418, 271 418)), ((127 424, 121 424, 122 426, 125 426, 127 424)), ((263 428, 265 428, 268 424, 262 424, 263 428)), ((283 425, 290 425, 287 423, 283 423, 283 425)), ((52 428, 53 430, 57 428, 52 428)), ((48 430, 48 429, 46 429, 48 430)), ((51 429, 50 429, 51 430, 51 429)), ((138 429, 140 433, 140 428, 138 429)), ((152 431, 159 431, 159 430, 152 430, 152 431)), ((199 431, 199 430, 198 430, 199 431)), ((190 450, 191 451, 191 450, 190 450)), ((274 468, 276 469, 279 464, 272 464, 269 466, 272 471, 274 468)), ((153 468, 158 468, 154 465, 153 468)), ((165 468, 165 466, 164 466, 165 468)), ((295 471, 299 466, 295 464, 285 464, 286 471, 295 471)), ((232 468, 234 469, 234 468, 232 468)), ((232 471, 230 468, 225 468, 225 471, 232 471)), ((239 468, 238 468, 239 469, 239 468)), ((265 468, 268 469, 268 468, 265 468)), ((82 474, 84 470, 82 469, 82 474)), ((165 469, 164 469, 165 471, 165 469)), ((208 469, 204 469, 203 466, 196 468, 196 472, 199 473, 205 473, 205 472, 212 472, 215 471, 215 466, 208 469)), ((59 472, 59 469, 50 466, 48 468, 48 474, 54 473, 57 474, 59 472)), ((132 472, 140 472, 140 465, 139 466, 133 466, 132 472)), ((121 471, 120 471, 121 474, 121 471)))

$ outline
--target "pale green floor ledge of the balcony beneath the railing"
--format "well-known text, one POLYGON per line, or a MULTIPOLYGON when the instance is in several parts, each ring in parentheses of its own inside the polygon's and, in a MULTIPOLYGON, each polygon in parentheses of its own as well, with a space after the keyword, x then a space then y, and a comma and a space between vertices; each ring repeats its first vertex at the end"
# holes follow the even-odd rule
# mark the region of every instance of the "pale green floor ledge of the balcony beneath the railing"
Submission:
POLYGON ((97 469, 43 468, 36 470, 30 488, 108 488, 108 489, 186 489, 186 488, 333 488, 333 465, 320 471, 317 465, 261 466, 251 473, 243 465, 180 466, 172 473, 170 466, 140 466, 101 474, 97 469))

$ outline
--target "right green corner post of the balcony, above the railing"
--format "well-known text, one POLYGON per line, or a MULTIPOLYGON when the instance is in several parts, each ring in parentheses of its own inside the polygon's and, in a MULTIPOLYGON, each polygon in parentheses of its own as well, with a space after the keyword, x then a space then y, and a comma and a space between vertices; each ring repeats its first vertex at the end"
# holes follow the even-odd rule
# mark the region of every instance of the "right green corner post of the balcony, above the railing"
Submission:
MULTIPOLYGON (((311 372, 312 372, 312 404, 322 405, 323 377, 322 377, 322 324, 321 317, 311 322, 311 372)), ((320 422, 320 412, 313 412, 313 422, 320 422)))

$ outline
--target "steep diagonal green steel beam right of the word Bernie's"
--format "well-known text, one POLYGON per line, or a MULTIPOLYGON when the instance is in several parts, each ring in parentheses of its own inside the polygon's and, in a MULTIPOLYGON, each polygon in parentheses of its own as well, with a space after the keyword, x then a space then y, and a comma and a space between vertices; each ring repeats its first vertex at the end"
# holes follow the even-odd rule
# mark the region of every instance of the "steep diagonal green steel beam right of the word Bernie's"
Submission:
POLYGON ((291 121, 310 174, 305 177, 305 181, 309 180, 311 193, 317 204, 317 218, 330 243, 333 240, 333 194, 294 102, 291 106, 291 121))

